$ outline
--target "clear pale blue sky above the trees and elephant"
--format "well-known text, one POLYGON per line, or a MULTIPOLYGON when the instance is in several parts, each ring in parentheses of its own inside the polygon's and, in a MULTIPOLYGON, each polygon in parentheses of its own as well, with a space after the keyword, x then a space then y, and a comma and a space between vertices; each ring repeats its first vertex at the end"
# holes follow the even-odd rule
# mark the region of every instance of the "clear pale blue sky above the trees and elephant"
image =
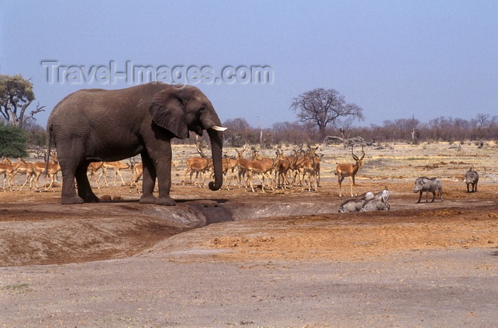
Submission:
POLYGON ((226 66, 268 66, 271 83, 188 83, 222 121, 244 117, 253 126, 257 112, 264 127, 295 121, 292 97, 314 88, 333 88, 362 107, 365 120, 355 125, 498 115, 494 0, 21 0, 0 1, 0 8, 0 73, 32 78, 37 101, 47 106, 37 116, 43 126, 70 92, 139 83, 105 76, 75 83, 64 74, 49 83, 43 60, 87 74, 110 71, 111 62, 117 72, 129 64, 207 66, 218 78, 226 66))

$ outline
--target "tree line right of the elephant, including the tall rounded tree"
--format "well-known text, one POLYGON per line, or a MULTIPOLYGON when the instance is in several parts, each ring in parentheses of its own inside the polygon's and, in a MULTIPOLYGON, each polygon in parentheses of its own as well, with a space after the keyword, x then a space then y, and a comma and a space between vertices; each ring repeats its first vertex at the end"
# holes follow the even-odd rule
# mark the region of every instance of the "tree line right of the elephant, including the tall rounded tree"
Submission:
POLYGON ((364 120, 363 109, 348 103, 344 95, 334 89, 317 88, 292 99, 290 110, 297 122, 277 122, 261 131, 251 127, 243 118, 226 120, 224 137, 235 147, 261 143, 316 144, 325 140, 344 140, 361 137, 365 142, 453 142, 464 140, 497 140, 498 117, 477 114, 468 121, 452 117, 438 117, 421 123, 414 116, 406 119, 385 120, 382 126, 354 127, 355 120, 364 120), (260 137, 263 132, 263 137, 260 137))

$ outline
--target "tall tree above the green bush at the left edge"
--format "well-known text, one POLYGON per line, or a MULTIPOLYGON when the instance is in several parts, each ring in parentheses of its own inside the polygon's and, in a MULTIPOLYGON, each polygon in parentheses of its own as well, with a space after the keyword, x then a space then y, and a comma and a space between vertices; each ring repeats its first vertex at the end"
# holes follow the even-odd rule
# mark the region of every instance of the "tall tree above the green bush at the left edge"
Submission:
POLYGON ((44 112, 45 106, 40 106, 38 102, 36 109, 26 114, 33 100, 35 100, 33 83, 24 79, 22 75, 0 75, 0 112, 6 122, 23 128, 26 120, 36 120, 34 115, 44 112))

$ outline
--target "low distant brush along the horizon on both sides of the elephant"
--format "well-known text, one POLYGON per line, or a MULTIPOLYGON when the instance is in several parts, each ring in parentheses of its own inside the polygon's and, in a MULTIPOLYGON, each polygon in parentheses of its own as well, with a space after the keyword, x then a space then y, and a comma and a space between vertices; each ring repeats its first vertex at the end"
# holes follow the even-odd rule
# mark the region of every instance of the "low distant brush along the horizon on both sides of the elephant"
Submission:
MULTIPOLYGON (((46 147, 46 131, 34 122, 26 122, 24 129, 6 125, 0 120, 0 155, 26 156, 30 147, 46 147)), ((260 144, 260 128, 252 127, 244 118, 226 120, 223 139, 227 146, 243 147, 244 144, 260 144)), ((472 120, 437 117, 427 123, 406 118, 385 120, 382 125, 369 127, 327 127, 326 135, 352 138, 363 137, 367 142, 463 142, 498 140, 498 116, 477 114, 472 120)), ((174 139, 174 144, 195 144, 195 134, 189 139, 174 139)), ((209 144, 206 133, 201 137, 204 147, 209 144)), ((263 129, 262 147, 286 144, 322 144, 324 139, 317 127, 309 122, 277 122, 263 129)))

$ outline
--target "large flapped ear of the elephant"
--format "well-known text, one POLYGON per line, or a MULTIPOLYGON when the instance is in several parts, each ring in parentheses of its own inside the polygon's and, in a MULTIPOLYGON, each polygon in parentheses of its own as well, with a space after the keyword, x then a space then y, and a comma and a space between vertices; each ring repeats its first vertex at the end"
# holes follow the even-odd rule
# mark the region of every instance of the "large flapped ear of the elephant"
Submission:
POLYGON ((183 102, 178 90, 172 88, 157 92, 149 105, 149 112, 154 123, 171 131, 180 139, 189 137, 183 102))

